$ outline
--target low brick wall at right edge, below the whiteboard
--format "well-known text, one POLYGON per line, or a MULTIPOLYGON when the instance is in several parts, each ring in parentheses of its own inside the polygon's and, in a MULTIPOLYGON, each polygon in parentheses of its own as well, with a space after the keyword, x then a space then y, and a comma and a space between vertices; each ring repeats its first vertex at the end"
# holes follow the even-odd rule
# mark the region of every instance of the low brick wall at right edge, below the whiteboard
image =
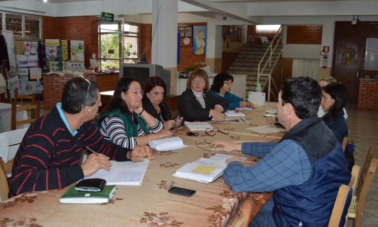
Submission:
POLYGON ((360 80, 357 109, 378 110, 378 80, 360 80))

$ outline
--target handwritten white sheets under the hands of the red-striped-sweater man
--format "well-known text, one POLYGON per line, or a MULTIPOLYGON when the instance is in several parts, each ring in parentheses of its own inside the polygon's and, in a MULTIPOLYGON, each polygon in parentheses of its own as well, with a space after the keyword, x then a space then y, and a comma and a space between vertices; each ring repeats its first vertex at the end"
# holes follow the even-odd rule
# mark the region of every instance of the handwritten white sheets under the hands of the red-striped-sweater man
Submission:
POLYGON ((86 177, 101 178, 106 181, 106 185, 142 185, 150 160, 145 158, 144 161, 110 161, 112 164, 110 171, 99 169, 94 175, 86 177))

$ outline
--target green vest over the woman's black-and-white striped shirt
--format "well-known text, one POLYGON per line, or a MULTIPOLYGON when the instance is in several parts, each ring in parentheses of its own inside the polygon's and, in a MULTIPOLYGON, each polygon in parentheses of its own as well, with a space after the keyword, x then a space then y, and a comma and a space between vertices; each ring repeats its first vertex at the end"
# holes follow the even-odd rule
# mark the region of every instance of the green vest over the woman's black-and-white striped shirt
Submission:
MULTIPOLYGON (((105 111, 102 113, 102 115, 98 118, 96 122, 97 128, 100 128, 97 124, 100 121, 100 119, 108 116, 108 115, 115 115, 118 118, 122 119, 125 133, 128 135, 128 137, 137 137, 138 136, 138 126, 134 124, 133 119, 130 117, 130 115, 124 115, 124 113, 121 112, 119 108, 113 109, 112 111, 105 111)), ((146 133, 146 135, 150 134, 147 128, 146 122, 139 117, 136 113, 133 112, 134 118, 137 119, 137 122, 139 124, 139 127, 142 128, 142 130, 146 133)))

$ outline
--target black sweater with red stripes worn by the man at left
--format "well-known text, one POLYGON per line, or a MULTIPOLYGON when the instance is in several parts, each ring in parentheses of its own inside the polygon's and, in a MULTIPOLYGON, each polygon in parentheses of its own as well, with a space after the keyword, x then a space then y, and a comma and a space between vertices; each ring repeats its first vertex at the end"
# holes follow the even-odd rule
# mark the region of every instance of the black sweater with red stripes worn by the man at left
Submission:
POLYGON ((84 123, 73 136, 55 106, 26 132, 12 168, 9 197, 30 191, 66 187, 83 179, 79 165, 85 146, 110 160, 129 161, 129 149, 103 139, 92 121, 84 123))

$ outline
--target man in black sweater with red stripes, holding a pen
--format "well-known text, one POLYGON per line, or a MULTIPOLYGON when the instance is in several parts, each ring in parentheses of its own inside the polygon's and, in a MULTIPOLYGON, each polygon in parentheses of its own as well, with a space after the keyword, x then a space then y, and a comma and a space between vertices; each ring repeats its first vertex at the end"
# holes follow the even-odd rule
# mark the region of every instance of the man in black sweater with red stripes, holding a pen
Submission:
POLYGON ((148 146, 129 150, 102 138, 92 121, 101 106, 100 97, 94 81, 75 77, 67 82, 61 103, 37 119, 24 135, 14 159, 9 197, 66 187, 100 168, 109 171, 109 159, 136 162, 154 158, 148 146), (98 155, 90 154, 80 164, 85 146, 98 155))

